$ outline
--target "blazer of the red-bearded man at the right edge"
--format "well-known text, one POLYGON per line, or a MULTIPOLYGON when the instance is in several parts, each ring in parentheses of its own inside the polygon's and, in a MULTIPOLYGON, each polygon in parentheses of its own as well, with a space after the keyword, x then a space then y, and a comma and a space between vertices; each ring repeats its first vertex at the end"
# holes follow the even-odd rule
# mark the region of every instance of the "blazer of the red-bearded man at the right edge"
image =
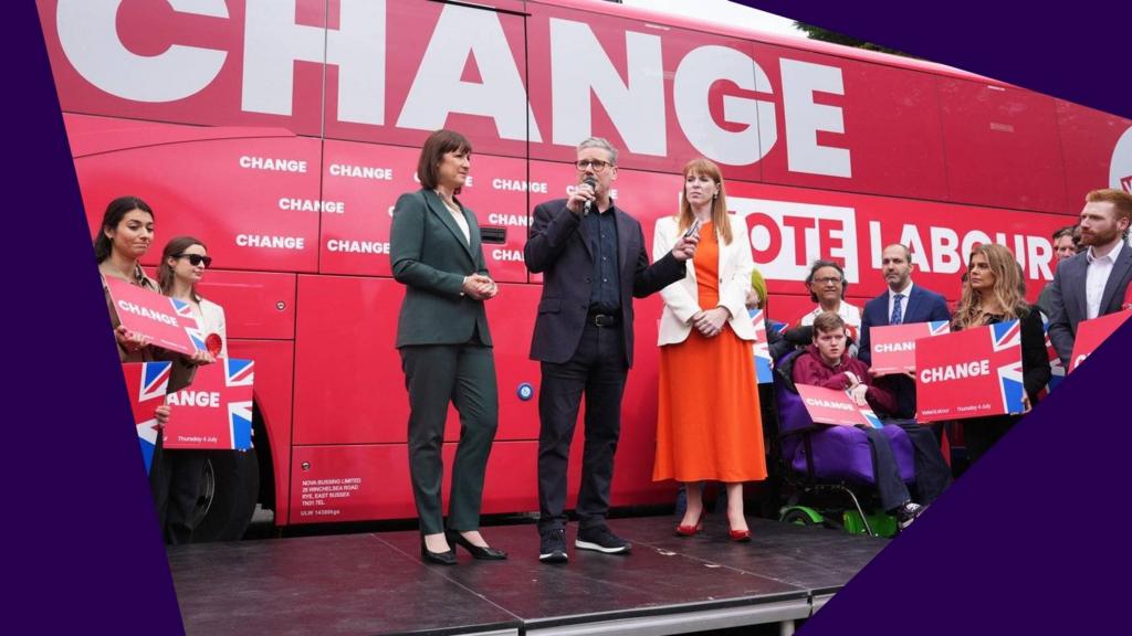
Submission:
MULTIPOLYGON (((1049 283, 1049 342, 1057 350, 1062 364, 1069 369, 1069 359, 1073 355, 1073 342, 1077 340, 1077 326, 1088 317, 1086 303, 1086 278, 1089 272, 1088 252, 1081 252, 1069 260, 1063 260, 1054 272, 1049 283)), ((1100 316, 1121 310, 1124 293, 1132 281, 1132 247, 1127 242, 1121 247, 1121 253, 1113 264, 1113 272, 1105 284, 1105 293, 1100 296, 1100 316)))

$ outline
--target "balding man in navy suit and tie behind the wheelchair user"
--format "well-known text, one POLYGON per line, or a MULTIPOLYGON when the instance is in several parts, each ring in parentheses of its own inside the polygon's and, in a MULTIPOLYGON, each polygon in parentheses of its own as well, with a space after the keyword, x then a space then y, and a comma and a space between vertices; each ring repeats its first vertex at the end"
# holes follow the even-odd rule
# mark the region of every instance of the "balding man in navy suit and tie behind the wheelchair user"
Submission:
MULTIPOLYGON (((857 356, 866 364, 873 364, 869 328, 874 326, 900 325, 903 323, 951 321, 947 301, 931 290, 912 284, 911 250, 907 246, 893 243, 881 252, 881 267, 887 289, 881 295, 865 303, 860 320, 860 350, 857 356)), ((916 416, 916 383, 908 376, 889 378, 889 388, 897 395, 898 410, 894 415, 902 419, 916 416)))

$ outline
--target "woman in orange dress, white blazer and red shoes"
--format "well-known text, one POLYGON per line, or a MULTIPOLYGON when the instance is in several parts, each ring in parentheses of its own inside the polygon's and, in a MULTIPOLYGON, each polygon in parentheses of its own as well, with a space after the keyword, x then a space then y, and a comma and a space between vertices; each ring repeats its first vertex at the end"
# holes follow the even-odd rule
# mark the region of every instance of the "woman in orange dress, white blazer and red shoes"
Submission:
POLYGON ((680 213, 657 222, 652 252, 668 253, 689 232, 700 234, 700 247, 688 260, 688 275, 660 292, 664 309, 652 479, 684 483, 687 510, 676 528, 683 536, 702 527, 702 482, 723 482, 730 538, 749 541, 743 482, 766 479, 755 330, 745 304, 754 263, 746 224, 727 213, 723 178, 705 158, 684 166, 680 213))

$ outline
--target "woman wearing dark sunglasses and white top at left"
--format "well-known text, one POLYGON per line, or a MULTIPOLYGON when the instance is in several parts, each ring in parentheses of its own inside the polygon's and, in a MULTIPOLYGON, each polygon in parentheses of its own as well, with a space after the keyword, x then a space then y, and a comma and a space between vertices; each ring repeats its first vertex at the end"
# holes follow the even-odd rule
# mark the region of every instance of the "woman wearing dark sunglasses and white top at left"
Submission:
MULTIPOLYGON (((218 346, 217 356, 228 356, 224 308, 206 300, 197 292, 197 283, 212 265, 205 244, 192 237, 177 237, 165 244, 157 268, 161 292, 189 303, 200 333, 218 346)), ((214 361, 212 353, 200 354, 197 363, 214 361)), ((188 543, 196 525, 194 512, 204 478, 206 450, 165 450, 160 466, 154 467, 155 505, 165 541, 171 544, 188 543)))

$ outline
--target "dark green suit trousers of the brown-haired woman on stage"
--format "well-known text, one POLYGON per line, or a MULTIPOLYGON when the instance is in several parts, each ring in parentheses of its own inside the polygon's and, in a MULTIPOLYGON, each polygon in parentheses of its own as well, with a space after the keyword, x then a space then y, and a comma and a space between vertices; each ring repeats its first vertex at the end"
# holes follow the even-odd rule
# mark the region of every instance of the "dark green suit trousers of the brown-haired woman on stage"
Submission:
POLYGON ((460 445, 452 466, 448 527, 480 527, 483 473, 499 423, 495 354, 480 344, 401 349, 409 389, 409 472, 422 534, 444 532, 441 447, 451 402, 460 413, 460 445))

